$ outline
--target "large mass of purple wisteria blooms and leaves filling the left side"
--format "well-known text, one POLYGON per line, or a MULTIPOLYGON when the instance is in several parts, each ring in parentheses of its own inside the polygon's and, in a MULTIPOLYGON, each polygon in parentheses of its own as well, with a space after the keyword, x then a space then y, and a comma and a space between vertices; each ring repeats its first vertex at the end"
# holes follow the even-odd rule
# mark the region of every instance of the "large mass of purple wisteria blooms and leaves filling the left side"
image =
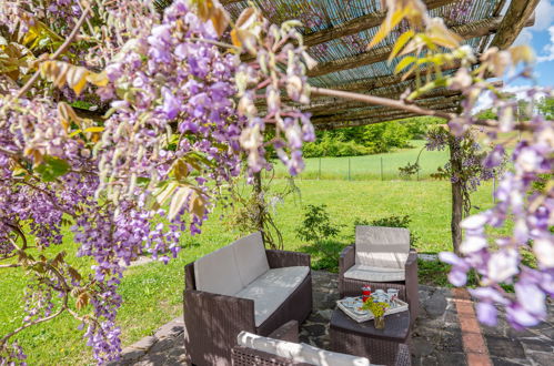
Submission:
MULTIPOLYGON (((99 364, 117 358, 125 266, 144 252, 165 263, 175 256, 182 232, 200 233, 213 190, 241 173, 244 155, 256 172, 272 144, 292 173, 302 170, 302 142, 314 134, 298 105, 309 101, 305 64, 313 61, 299 24, 270 26, 249 9, 231 32, 234 45, 225 44, 229 16, 208 2, 202 10, 177 0, 162 17, 142 0, 99 0, 93 9, 73 0, 2 4, 0 24, 10 32, 32 29, 27 39, 49 50, 59 37, 73 42, 57 52, 60 60, 33 54, 33 62, 16 67, 18 75, 36 71, 28 84, 39 72, 47 81, 21 87, 10 74, 14 83, 0 95, 0 261, 8 261, 0 268, 36 274, 23 325, 0 337, 1 364, 24 360, 13 335, 62 313, 81 321, 99 364), (248 14, 255 14, 253 23, 248 14), (241 50, 249 61, 240 60, 241 50), (69 63, 74 59, 79 65, 69 63), (78 115, 66 101, 80 94, 109 105, 105 116, 78 115), (259 105, 262 99, 269 108, 259 105), (271 141, 266 124, 274 126, 271 141), (48 255, 66 225, 77 255, 95 261, 90 275, 63 252, 48 255), (28 237, 39 257, 28 254, 28 237)), ((19 39, 12 35, 7 39, 19 39)), ((21 47, 41 52, 32 44, 21 47)))

